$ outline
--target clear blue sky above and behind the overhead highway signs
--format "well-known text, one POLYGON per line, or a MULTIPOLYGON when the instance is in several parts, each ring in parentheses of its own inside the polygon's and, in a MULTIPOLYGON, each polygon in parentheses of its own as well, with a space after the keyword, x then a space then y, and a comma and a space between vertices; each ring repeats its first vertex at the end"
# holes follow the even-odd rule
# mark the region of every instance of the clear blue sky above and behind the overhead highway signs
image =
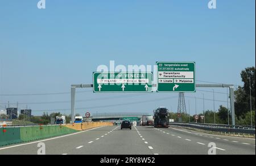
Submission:
MULTIPOLYGON (((68 101, 69 94, 3 94, 69 92, 71 84, 92 83, 93 71, 98 65, 109 65, 110 60, 116 65, 195 61, 197 80, 242 85, 241 70, 255 66, 255 1, 217 0, 216 10, 210 10, 208 2, 46 0, 46 9, 39 10, 38 0, 1 1, 0 109, 8 101, 68 101)), ((177 111, 178 93, 137 96, 94 94, 90 89, 78 91, 83 92, 77 94, 77 100, 109 97, 77 103, 76 107, 85 108, 77 110, 81 114, 86 111, 152 113, 159 106, 177 111), (154 99, 159 100, 150 101, 154 99), (133 104, 104 107, 125 103, 133 104)), ((221 102, 226 100, 223 94, 226 89, 215 91, 221 92, 216 93, 216 99, 220 100, 216 102, 217 109, 218 105, 226 105, 221 102)), ((209 92, 185 94, 191 114, 196 112, 193 97, 202 97, 203 93, 205 98, 212 99, 209 92)), ((197 113, 203 110, 202 105, 202 100, 197 99, 197 113)), ((28 104, 28 107, 69 109, 70 103, 28 104)), ((20 104, 19 108, 26 108, 26 104, 20 104)), ((213 109, 213 101, 205 101, 205 109, 213 109)))

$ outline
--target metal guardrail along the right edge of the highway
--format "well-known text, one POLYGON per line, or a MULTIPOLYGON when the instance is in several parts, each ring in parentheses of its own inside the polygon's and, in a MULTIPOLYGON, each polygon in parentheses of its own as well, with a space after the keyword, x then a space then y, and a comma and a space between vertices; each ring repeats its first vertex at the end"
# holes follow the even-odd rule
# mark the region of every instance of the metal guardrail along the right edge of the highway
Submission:
POLYGON ((198 124, 185 122, 170 122, 169 125, 192 127, 195 129, 224 132, 224 133, 241 133, 241 134, 255 134, 255 126, 240 126, 240 125, 218 125, 218 124, 198 124))

